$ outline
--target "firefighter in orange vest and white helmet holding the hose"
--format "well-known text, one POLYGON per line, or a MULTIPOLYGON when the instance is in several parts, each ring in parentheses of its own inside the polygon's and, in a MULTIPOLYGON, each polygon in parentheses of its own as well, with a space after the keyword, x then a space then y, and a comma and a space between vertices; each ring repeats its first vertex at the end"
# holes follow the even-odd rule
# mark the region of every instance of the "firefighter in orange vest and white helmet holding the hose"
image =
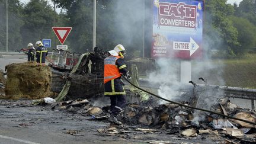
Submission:
POLYGON ((110 50, 109 56, 104 59, 104 95, 110 97, 111 115, 108 121, 116 124, 121 124, 117 120, 117 115, 123 110, 126 105, 126 92, 123 88, 121 74, 130 78, 127 67, 124 63, 124 55, 126 50, 121 44, 110 50))

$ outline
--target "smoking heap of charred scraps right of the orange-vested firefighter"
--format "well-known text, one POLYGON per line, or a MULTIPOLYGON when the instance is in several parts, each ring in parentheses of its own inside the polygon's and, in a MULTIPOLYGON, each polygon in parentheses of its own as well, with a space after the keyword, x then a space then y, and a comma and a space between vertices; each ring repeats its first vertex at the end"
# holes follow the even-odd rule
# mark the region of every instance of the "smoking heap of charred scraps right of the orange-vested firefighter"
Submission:
MULTIPOLYGON (((219 103, 211 107, 211 110, 252 123, 256 122, 254 111, 239 108, 229 100, 220 99, 219 103)), ((194 111, 177 104, 162 104, 158 107, 143 103, 129 104, 123 115, 123 123, 165 130, 170 135, 184 137, 217 135, 223 139, 229 137, 233 142, 255 142, 256 140, 256 126, 253 124, 224 119, 216 114, 194 111)))

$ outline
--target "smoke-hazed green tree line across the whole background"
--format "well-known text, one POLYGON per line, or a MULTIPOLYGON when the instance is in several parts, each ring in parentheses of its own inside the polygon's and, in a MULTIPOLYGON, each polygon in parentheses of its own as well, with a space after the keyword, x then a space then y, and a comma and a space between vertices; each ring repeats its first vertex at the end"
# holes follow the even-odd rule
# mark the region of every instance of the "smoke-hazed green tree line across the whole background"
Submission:
MULTIPOLYGON (((238 4, 226 4, 227 0, 205 1, 204 5, 204 51, 219 50, 219 57, 237 57, 256 51, 256 0, 243 0, 238 4)), ((8 50, 24 48, 27 43, 41 39, 55 39, 52 27, 73 27, 65 44, 73 52, 92 50, 91 0, 52 0, 59 13, 46 0, 31 0, 23 4, 8 1, 8 50), (54 17, 55 15, 55 17, 54 17)), ((97 0, 98 47, 113 49, 123 44, 129 53, 140 52, 145 46, 144 24, 150 20, 151 1, 143 0, 97 0), (145 16, 146 15, 146 16, 145 16)), ((6 1, 0 0, 0 51, 6 47, 6 1)), ((150 46, 150 44, 149 44, 150 46)), ((150 50, 147 47, 146 50, 150 50)))

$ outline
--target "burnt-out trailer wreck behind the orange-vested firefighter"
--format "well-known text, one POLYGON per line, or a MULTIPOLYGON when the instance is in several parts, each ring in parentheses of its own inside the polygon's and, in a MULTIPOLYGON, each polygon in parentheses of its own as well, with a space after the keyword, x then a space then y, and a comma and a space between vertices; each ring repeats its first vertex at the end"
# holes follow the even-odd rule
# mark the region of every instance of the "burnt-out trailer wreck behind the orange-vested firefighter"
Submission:
MULTIPOLYGON (((104 92, 104 59, 108 52, 94 49, 94 52, 84 53, 70 71, 63 71, 52 66, 52 91, 59 93, 61 99, 91 98, 104 92)), ((131 71, 136 65, 138 75, 155 70, 155 60, 143 57, 126 58, 127 67, 131 71)))

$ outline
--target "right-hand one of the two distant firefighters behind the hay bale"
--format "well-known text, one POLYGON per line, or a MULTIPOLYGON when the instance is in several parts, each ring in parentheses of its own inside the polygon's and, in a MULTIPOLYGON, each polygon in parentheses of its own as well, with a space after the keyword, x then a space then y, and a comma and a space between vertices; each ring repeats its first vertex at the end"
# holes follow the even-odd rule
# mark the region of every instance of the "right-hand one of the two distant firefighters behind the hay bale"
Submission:
POLYGON ((36 48, 37 65, 45 66, 46 56, 48 55, 47 49, 41 41, 36 41, 36 48))

